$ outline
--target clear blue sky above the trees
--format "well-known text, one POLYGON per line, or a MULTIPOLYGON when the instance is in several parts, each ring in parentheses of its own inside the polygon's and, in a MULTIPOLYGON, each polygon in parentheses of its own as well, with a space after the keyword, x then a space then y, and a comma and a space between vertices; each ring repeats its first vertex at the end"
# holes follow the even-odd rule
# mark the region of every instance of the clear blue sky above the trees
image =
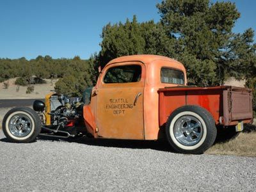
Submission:
MULTIPOLYGON (((241 13, 233 31, 256 31, 256 1, 231 1, 241 13)), ((139 22, 158 22, 157 3, 161 0, 0 0, 0 58, 88 59, 100 51, 103 26, 133 15, 139 22)))

